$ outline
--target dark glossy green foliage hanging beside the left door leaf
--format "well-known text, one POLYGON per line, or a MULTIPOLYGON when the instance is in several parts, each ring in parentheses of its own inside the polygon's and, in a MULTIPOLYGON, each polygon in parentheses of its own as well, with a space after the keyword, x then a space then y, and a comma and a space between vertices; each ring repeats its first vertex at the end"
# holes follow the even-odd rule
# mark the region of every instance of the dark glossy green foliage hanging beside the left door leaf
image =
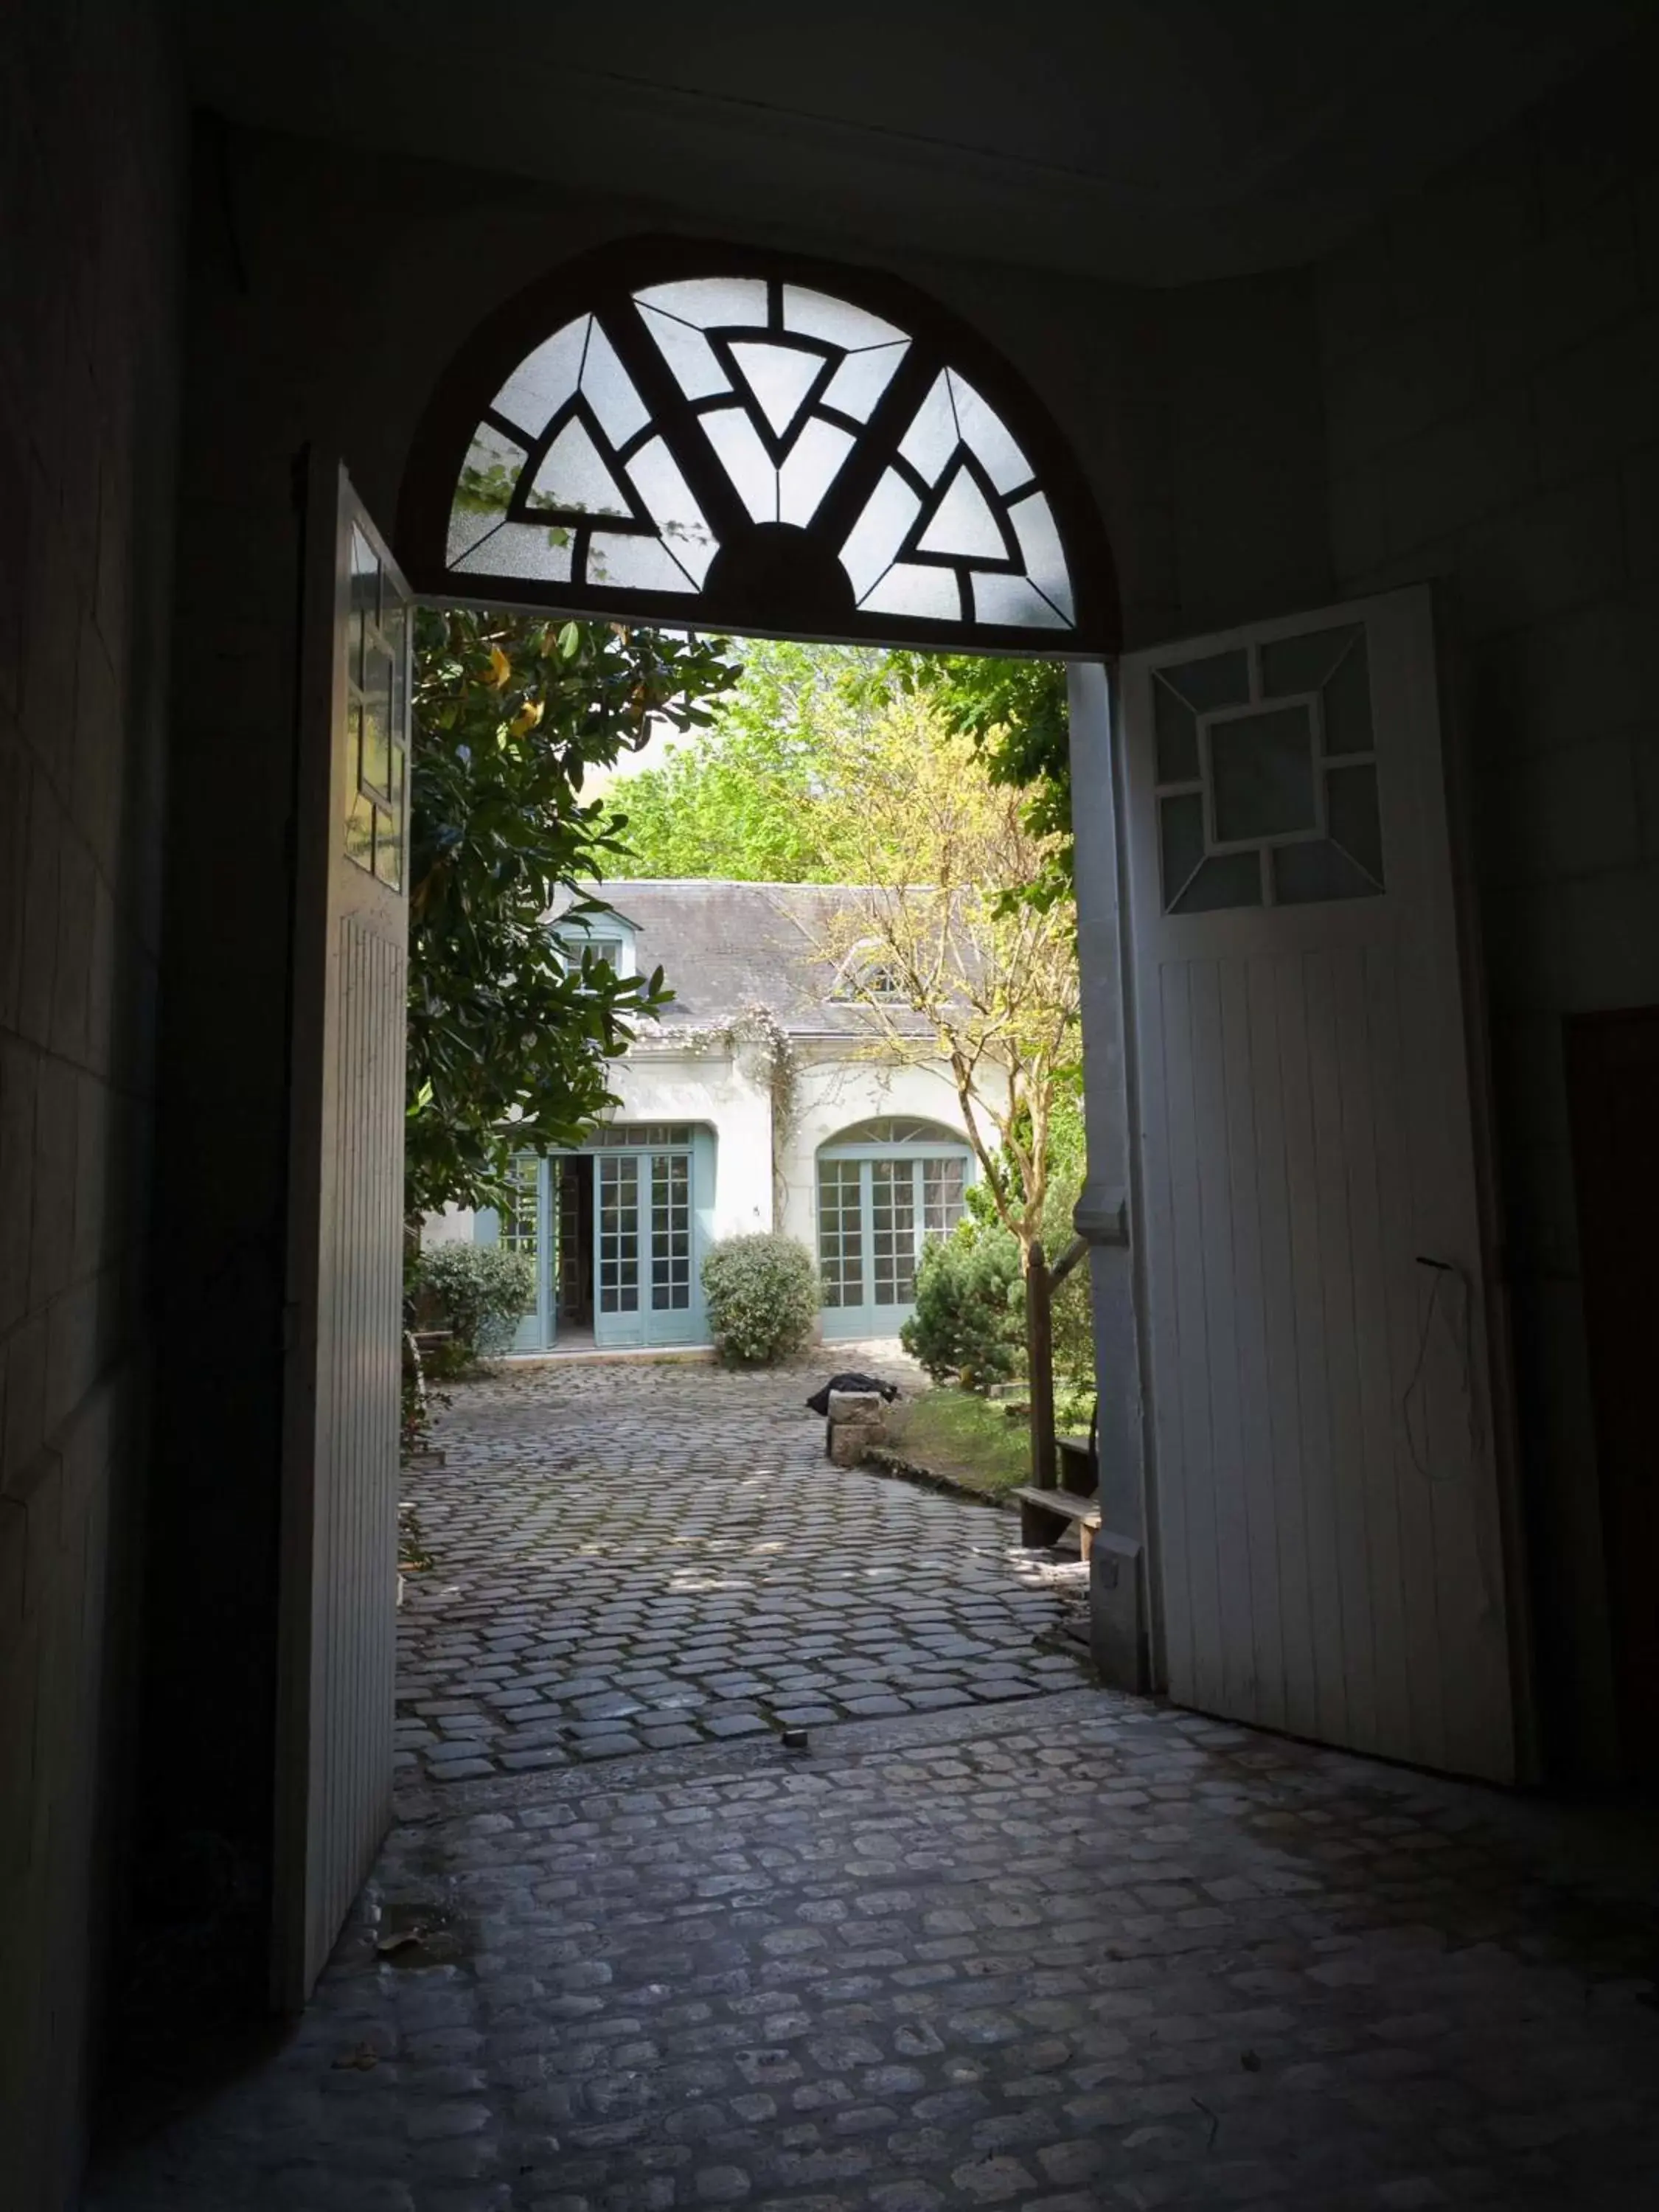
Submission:
MULTIPOLYGON (((661 971, 568 967, 546 929, 615 841, 588 768, 653 721, 708 721, 723 641, 604 622, 420 611, 409 854, 409 1214, 500 1203, 520 1150, 577 1144, 661 971), (511 1128, 509 1128, 511 1124, 511 1128)), ((582 898, 573 914, 606 914, 582 898)))

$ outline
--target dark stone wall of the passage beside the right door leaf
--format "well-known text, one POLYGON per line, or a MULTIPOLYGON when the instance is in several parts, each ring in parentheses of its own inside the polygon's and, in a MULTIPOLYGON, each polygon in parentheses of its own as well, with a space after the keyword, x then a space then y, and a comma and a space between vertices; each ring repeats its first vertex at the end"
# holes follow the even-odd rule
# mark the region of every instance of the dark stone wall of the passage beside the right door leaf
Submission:
POLYGON ((1659 1000, 1659 40, 1318 270, 1338 588, 1442 577, 1493 1013, 1544 1723, 1610 1756, 1562 1018, 1659 1000))

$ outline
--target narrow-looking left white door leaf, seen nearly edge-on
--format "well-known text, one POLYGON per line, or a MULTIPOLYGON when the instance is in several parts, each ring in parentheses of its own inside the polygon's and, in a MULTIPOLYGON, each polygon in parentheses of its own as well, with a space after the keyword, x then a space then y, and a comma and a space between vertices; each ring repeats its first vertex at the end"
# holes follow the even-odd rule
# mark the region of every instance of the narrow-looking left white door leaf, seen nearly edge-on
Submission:
POLYGON ((274 1995, 303 2004, 392 1812, 411 604, 312 467, 294 849, 274 1995))

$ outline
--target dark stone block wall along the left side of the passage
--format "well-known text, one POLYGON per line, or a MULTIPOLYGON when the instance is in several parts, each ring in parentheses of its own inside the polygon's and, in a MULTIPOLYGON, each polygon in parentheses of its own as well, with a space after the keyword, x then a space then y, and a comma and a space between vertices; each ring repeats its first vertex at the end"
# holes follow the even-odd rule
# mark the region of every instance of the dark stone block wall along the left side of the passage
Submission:
POLYGON ((0 2166, 73 2201, 146 1464, 181 111, 146 0, 0 38, 0 2166))

